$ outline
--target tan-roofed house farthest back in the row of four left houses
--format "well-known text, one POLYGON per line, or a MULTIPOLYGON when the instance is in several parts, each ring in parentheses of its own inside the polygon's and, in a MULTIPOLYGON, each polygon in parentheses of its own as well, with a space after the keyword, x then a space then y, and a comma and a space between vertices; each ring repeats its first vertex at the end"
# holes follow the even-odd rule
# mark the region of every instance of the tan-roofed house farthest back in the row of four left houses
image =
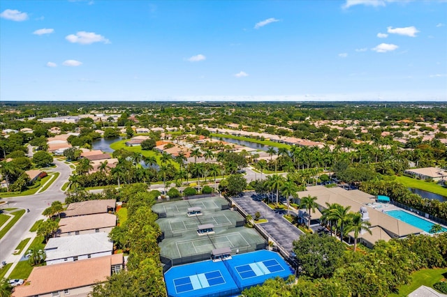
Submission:
POLYGON ((93 215, 95 213, 115 212, 117 200, 101 199, 75 202, 68 204, 66 211, 61 213, 62 218, 75 217, 77 215, 93 215))

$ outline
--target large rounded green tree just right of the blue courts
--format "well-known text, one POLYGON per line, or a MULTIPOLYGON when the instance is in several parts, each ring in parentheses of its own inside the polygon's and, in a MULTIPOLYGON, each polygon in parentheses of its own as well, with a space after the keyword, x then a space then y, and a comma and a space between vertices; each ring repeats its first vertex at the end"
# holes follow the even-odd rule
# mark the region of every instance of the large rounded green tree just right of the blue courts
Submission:
POLYGON ((330 277, 342 264, 344 245, 327 234, 305 234, 293 241, 302 275, 330 277))

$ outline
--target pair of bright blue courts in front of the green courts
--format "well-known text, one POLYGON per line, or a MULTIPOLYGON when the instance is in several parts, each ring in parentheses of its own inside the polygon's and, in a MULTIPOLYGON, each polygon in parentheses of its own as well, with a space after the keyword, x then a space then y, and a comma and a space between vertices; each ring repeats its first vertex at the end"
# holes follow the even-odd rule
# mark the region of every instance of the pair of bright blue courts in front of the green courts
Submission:
POLYGON ((269 278, 286 279, 294 273, 276 252, 259 250, 232 257, 170 268, 165 273, 168 296, 235 296, 269 278))

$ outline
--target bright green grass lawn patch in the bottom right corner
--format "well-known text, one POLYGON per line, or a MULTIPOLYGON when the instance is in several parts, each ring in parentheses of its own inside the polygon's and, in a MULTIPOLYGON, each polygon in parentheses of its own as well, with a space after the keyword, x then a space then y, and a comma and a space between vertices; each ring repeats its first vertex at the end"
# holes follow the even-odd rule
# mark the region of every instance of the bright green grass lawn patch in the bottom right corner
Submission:
POLYGON ((413 278, 411 284, 401 286, 399 288, 399 294, 390 294, 389 296, 407 296, 422 285, 433 287, 434 283, 439 282, 444 278, 444 273, 447 273, 446 268, 423 269, 421 271, 416 271, 413 275, 411 275, 413 278))

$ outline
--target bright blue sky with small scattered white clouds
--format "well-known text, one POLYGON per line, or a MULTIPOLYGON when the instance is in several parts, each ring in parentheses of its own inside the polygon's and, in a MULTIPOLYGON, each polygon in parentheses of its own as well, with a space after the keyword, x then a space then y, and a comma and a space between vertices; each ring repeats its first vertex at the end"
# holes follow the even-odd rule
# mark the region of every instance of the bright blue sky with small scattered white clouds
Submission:
POLYGON ((1 0, 0 28, 0 100, 447 101, 446 0, 1 0))

